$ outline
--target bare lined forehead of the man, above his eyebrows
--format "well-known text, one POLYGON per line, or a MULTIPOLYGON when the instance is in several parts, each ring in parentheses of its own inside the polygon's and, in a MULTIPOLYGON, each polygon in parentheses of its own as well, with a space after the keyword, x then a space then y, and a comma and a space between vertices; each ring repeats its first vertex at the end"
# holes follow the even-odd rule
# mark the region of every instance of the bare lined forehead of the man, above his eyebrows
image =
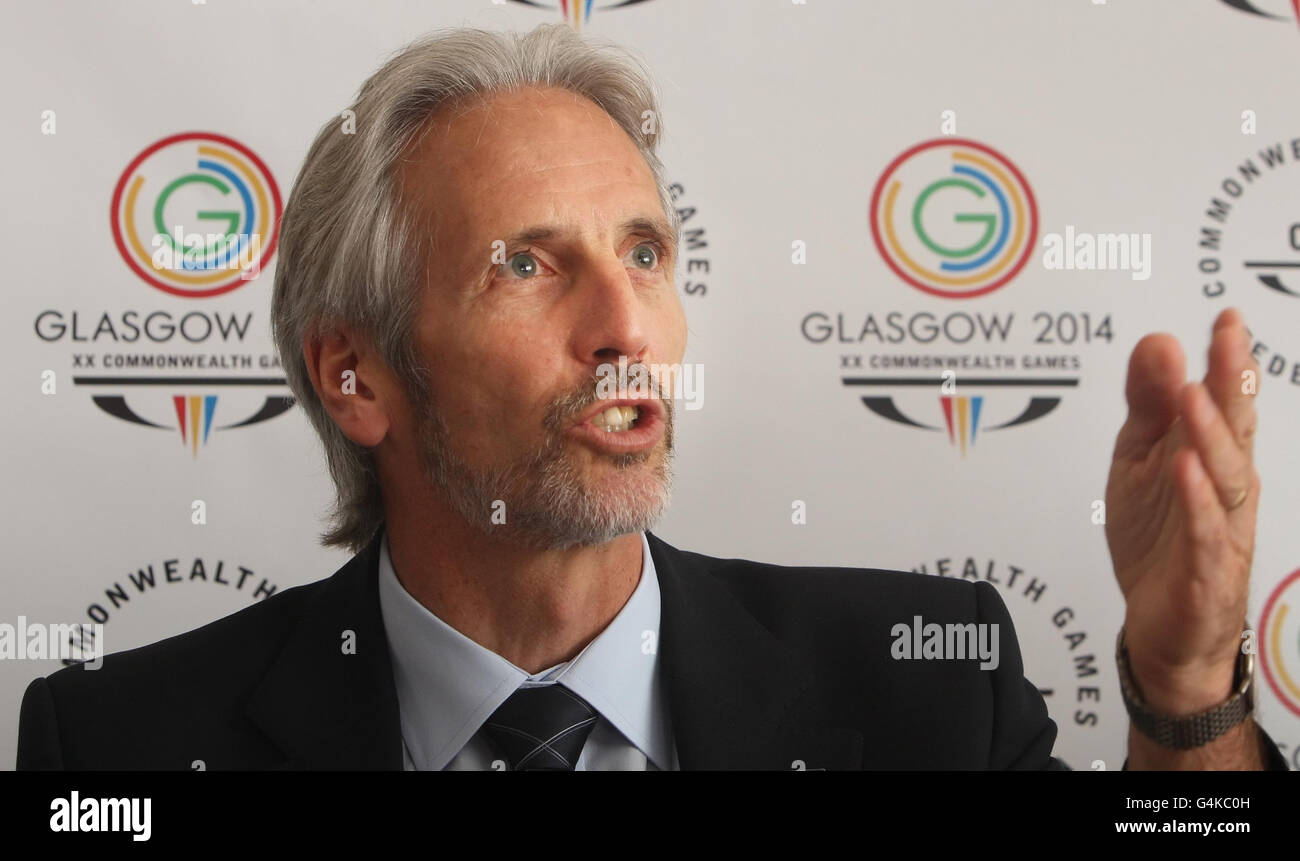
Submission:
POLYGON ((445 105, 408 148, 400 179, 436 242, 659 209, 654 176, 628 134, 595 103, 550 87, 445 105))

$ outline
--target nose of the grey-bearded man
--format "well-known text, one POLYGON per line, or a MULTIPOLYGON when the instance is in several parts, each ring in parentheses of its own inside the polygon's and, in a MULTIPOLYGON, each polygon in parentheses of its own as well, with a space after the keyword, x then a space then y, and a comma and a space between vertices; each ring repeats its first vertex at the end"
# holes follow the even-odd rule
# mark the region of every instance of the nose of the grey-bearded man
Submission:
POLYGON ((627 356, 628 364, 645 360, 650 346, 645 298, 623 263, 590 267, 575 286, 578 362, 594 372, 601 364, 618 364, 619 356, 627 356))

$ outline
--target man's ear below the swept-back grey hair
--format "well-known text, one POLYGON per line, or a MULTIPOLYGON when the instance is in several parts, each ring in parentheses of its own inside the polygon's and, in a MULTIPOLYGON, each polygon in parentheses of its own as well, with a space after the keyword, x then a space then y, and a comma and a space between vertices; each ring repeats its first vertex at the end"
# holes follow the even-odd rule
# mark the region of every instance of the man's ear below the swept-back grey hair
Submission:
POLYGON ((303 338, 303 359, 321 404, 352 442, 373 449, 393 423, 391 373, 347 328, 303 338))

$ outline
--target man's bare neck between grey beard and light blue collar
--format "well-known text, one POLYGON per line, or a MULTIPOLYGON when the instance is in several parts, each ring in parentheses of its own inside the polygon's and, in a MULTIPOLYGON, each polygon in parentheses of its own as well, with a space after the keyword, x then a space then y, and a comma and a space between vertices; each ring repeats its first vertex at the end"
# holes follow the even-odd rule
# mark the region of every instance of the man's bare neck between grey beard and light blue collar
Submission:
POLYGON ((430 613, 526 672, 576 657, 641 580, 640 532, 597 546, 537 550, 474 529, 446 506, 432 507, 387 510, 398 580, 430 613))

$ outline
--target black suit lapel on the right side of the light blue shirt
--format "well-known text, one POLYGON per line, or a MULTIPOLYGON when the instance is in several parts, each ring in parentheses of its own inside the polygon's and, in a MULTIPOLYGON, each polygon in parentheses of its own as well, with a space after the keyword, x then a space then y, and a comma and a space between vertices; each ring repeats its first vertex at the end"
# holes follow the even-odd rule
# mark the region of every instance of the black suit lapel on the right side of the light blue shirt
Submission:
POLYGON ((663 611, 659 654, 682 770, 858 769, 862 734, 823 726, 816 669, 708 570, 647 533, 663 611))

